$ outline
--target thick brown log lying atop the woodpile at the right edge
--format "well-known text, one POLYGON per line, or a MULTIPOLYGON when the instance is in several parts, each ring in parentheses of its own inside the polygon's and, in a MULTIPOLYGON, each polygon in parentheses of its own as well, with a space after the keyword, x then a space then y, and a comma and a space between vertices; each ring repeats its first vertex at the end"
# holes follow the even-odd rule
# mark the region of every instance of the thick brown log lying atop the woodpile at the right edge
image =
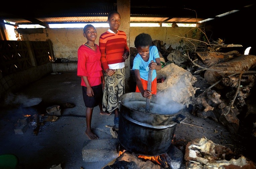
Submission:
MULTIPOLYGON (((214 84, 221 80, 222 77, 233 74, 232 71, 248 71, 249 69, 256 66, 256 56, 254 55, 241 55, 235 59, 232 59, 225 63, 220 63, 212 65, 209 69, 214 69, 217 71, 206 70, 204 73, 205 80, 210 84, 214 84)), ((214 87, 218 89, 224 88, 223 85, 217 84, 214 87)))

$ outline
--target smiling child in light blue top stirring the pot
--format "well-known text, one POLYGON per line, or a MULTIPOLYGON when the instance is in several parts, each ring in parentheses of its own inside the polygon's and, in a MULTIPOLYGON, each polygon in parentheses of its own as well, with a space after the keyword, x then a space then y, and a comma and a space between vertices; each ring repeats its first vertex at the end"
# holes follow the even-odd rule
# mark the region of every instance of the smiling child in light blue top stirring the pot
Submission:
POLYGON ((157 93, 156 70, 161 70, 160 56, 156 46, 152 46, 152 38, 149 34, 139 34, 134 41, 138 54, 133 61, 135 70, 136 91, 141 92, 143 97, 151 98, 157 93), (151 91, 147 90, 149 69, 153 70, 151 91))

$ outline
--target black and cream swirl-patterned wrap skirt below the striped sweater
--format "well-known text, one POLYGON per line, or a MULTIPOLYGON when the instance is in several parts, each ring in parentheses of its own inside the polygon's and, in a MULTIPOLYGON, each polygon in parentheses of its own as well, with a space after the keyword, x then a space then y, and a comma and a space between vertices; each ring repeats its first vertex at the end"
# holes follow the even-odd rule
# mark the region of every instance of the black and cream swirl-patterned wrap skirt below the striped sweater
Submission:
POLYGON ((125 68, 115 69, 115 73, 112 76, 108 76, 104 72, 103 111, 112 112, 116 108, 119 108, 118 98, 124 93, 124 75, 125 68))

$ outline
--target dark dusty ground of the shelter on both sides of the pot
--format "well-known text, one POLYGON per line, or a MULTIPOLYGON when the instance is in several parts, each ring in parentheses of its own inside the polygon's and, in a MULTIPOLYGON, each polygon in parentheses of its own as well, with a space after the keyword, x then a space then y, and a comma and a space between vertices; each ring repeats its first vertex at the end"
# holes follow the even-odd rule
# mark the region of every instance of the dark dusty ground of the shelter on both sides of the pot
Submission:
MULTIPOLYGON (((76 73, 48 75, 17 93, 10 93, 1 102, 0 110, 0 155, 15 154, 21 168, 49 169, 61 164, 63 169, 101 169, 110 161, 84 162, 82 148, 89 140, 86 129, 85 109, 81 79, 76 73), (62 105, 69 102, 73 108, 63 108, 62 115, 54 122, 44 122, 38 134, 33 134, 30 126, 24 134, 15 134, 14 127, 19 118, 26 114, 20 109, 26 98, 42 98, 45 106, 62 105)), ((231 134, 220 123, 211 119, 196 117, 190 113, 191 107, 184 109, 185 123, 177 124, 173 144, 183 153, 188 142, 206 137, 216 144, 231 148, 235 153, 256 161, 255 137, 247 124, 241 122, 238 133, 231 134)), ((99 139, 112 138, 109 128, 113 126, 114 115, 100 115, 98 106, 93 110, 92 128, 99 139)), ((100 152, 99 152, 100 153, 100 152)), ((185 161, 182 164, 185 165, 185 161)))

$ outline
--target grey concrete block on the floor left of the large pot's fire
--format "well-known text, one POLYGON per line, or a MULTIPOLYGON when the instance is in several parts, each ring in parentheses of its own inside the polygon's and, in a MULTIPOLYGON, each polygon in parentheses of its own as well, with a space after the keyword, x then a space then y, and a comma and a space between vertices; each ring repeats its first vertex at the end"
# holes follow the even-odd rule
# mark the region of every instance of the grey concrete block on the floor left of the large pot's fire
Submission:
POLYGON ((82 155, 84 162, 112 161, 118 157, 118 139, 97 139, 84 142, 82 155))

